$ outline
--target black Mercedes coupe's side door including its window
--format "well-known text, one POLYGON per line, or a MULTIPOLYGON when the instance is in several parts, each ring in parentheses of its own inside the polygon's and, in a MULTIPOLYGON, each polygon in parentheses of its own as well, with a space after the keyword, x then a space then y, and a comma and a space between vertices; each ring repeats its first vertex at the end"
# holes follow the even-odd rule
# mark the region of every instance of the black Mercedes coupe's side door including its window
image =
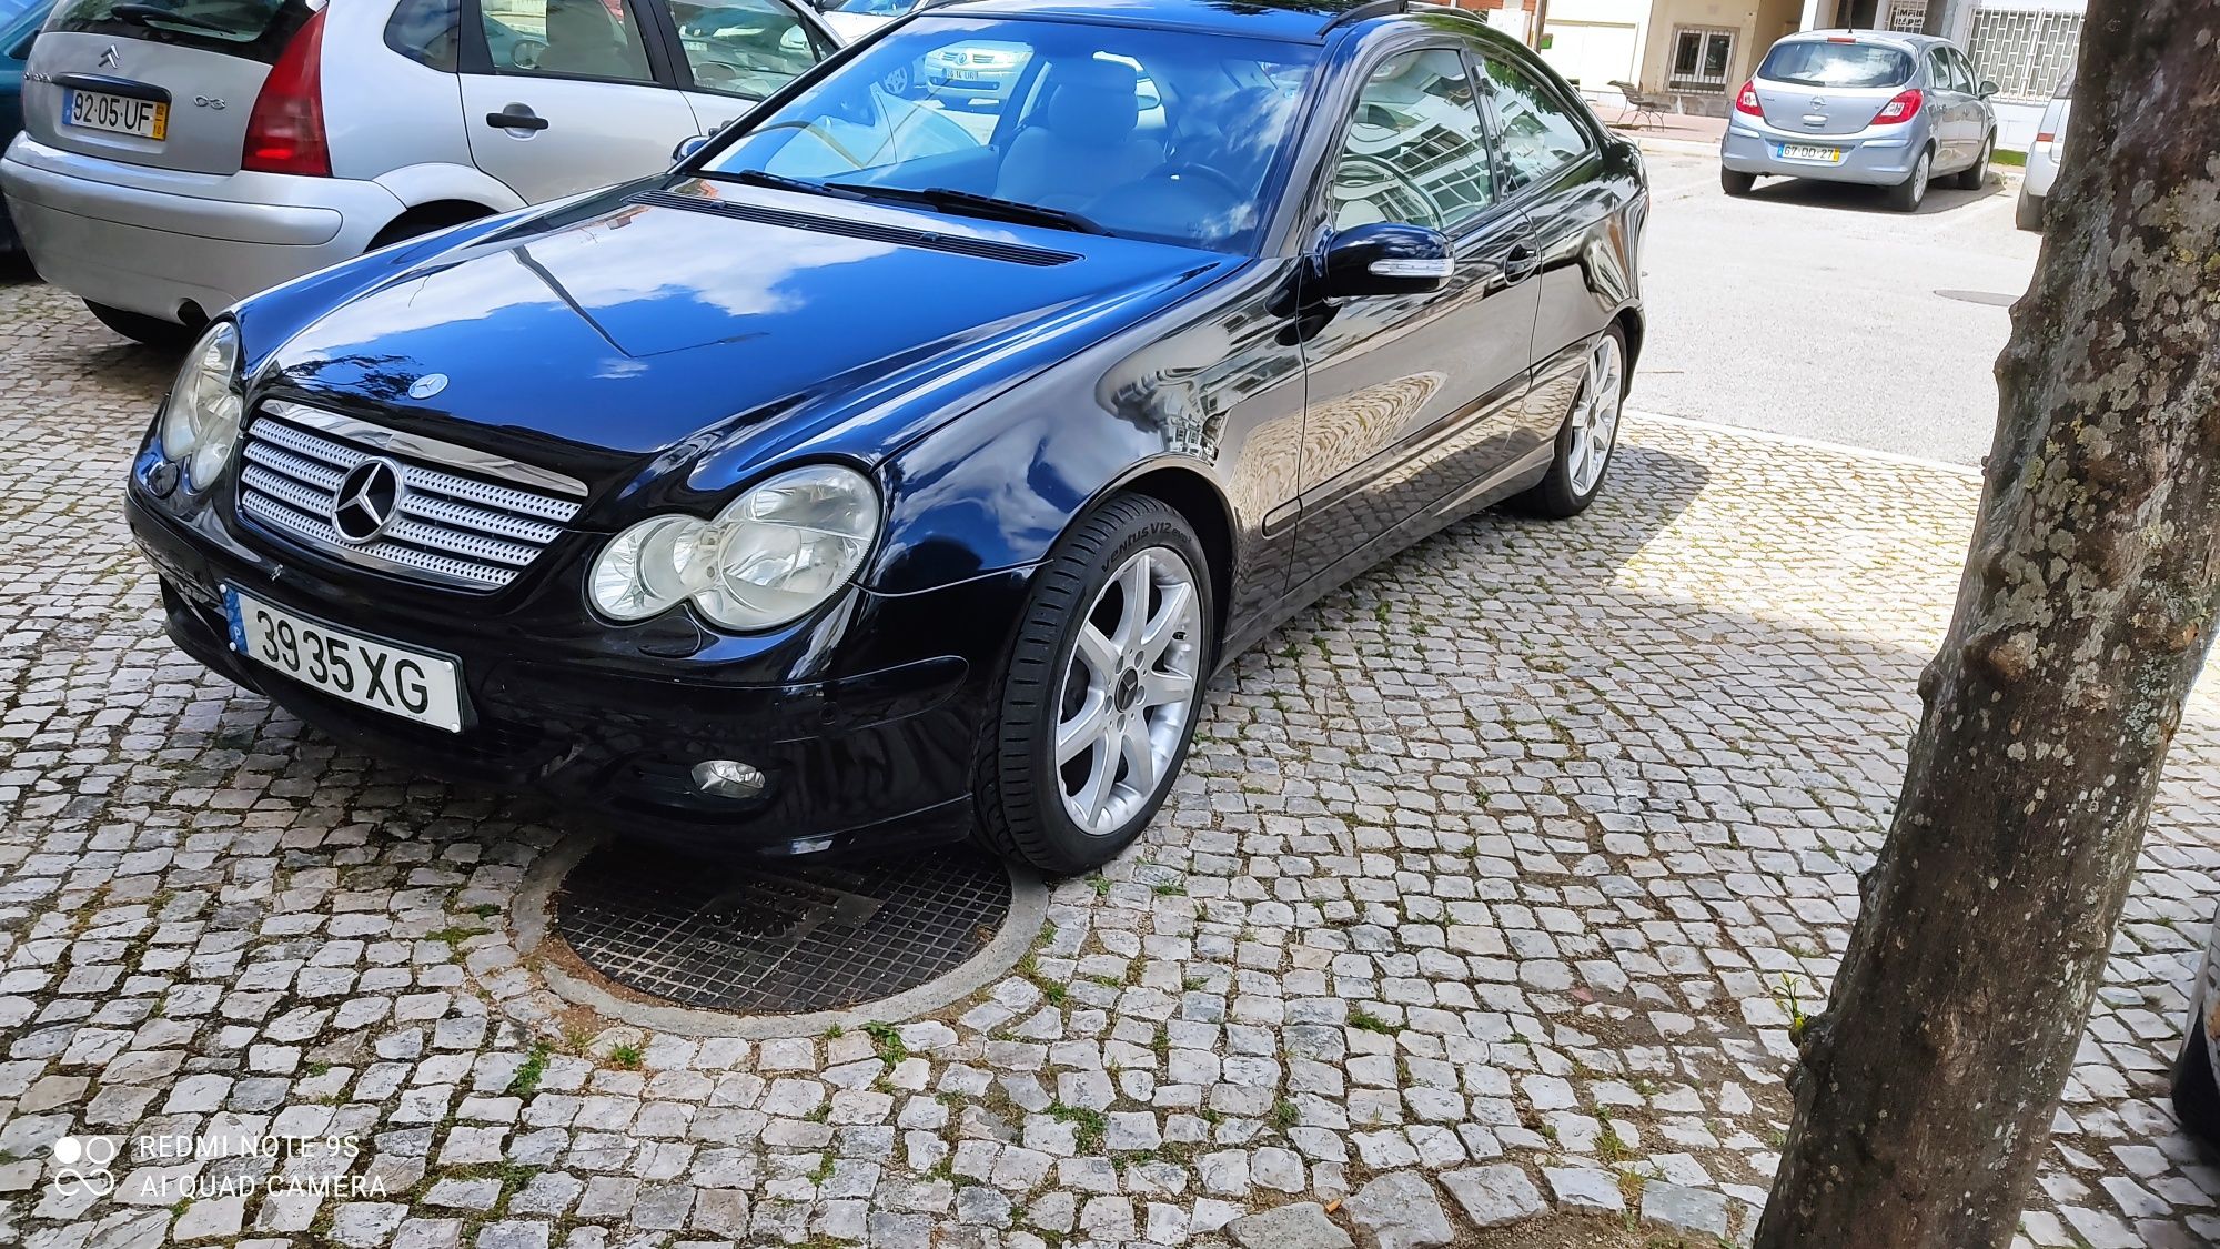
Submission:
POLYGON ((1456 267, 1425 296, 1303 298, 1296 584, 1514 456, 1534 336, 1530 229, 1499 193, 1463 51, 1390 53, 1359 80, 1321 171, 1319 247, 1356 224, 1423 224, 1450 236, 1456 267))

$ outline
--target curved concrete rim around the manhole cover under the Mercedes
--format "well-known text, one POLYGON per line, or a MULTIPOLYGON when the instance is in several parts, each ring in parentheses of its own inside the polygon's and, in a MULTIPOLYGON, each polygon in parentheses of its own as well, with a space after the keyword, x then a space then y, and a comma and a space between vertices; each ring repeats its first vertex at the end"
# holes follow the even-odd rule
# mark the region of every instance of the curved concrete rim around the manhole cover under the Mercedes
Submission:
POLYGON ((602 836, 566 838, 555 849, 539 856, 539 860, 524 873, 513 911, 517 953, 522 960, 531 962, 531 971, 539 976, 539 980, 544 980, 557 998, 586 1007, 610 1020, 653 1031, 668 1031, 675 1036, 779 1040, 795 1036, 824 1036, 835 1027, 857 1029, 866 1022, 908 1022, 961 1002, 1006 976, 1012 967, 1017 967, 1017 960, 1032 949, 1032 938, 1039 936, 1041 925, 1048 920, 1048 885, 1030 871, 1006 867, 1010 871, 1010 918, 1003 920, 995 940, 990 940, 983 951, 955 971, 915 989, 895 993, 892 998, 864 1002, 844 1011, 813 1011, 806 1016, 733 1016, 726 1011, 697 1011, 690 1007, 650 1007, 646 1002, 617 996, 595 980, 573 976, 546 958, 533 958, 533 953, 546 940, 553 940, 555 933, 551 909, 555 887, 562 885, 562 878, 568 876, 571 869, 604 840, 606 838, 602 836))

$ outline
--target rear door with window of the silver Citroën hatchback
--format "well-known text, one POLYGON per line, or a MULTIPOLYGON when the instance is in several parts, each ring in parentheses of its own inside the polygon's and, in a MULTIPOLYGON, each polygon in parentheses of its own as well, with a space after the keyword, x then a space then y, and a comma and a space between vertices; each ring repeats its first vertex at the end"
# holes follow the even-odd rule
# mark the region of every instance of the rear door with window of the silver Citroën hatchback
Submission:
POLYGON ((462 73, 471 160, 531 202, 642 178, 697 133, 639 0, 475 0, 462 73))

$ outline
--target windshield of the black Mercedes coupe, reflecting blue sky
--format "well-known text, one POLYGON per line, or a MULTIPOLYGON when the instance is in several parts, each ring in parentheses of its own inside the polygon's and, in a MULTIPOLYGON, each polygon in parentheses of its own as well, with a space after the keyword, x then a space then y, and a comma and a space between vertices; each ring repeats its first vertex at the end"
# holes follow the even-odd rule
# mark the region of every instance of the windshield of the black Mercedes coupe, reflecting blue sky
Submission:
POLYGON ((1230 36, 924 16, 750 118, 704 173, 1250 251, 1314 60, 1230 36))

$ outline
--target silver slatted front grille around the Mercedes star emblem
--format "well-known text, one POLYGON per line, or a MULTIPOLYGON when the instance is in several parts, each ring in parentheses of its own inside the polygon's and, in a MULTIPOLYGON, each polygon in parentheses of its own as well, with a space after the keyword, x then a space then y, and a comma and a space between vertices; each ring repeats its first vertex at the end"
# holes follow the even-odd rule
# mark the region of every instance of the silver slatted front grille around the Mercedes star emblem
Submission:
POLYGON ((242 458, 242 516, 353 564, 477 593, 531 567, 586 493, 559 473, 291 402, 255 413, 242 458), (393 518, 351 542, 333 524, 340 484, 375 458, 400 473, 393 518))

